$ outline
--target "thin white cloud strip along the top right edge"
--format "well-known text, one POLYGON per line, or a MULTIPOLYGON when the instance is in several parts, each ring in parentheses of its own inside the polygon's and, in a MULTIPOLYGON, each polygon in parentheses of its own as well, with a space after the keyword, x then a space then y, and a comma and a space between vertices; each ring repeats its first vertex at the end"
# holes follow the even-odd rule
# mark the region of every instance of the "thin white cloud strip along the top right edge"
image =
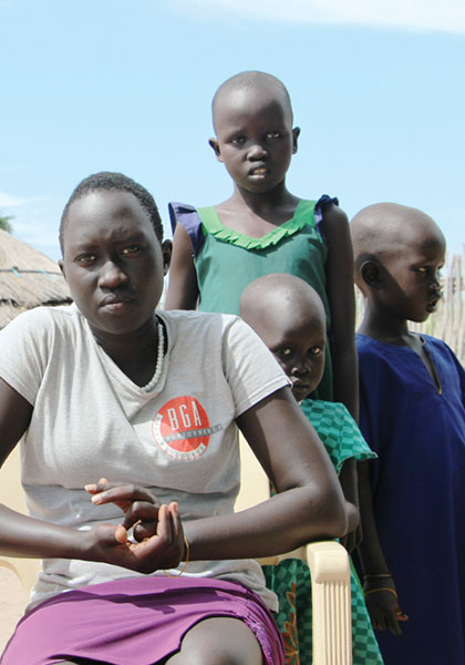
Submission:
POLYGON ((465 34, 464 0, 170 0, 183 11, 294 23, 378 25, 465 34))

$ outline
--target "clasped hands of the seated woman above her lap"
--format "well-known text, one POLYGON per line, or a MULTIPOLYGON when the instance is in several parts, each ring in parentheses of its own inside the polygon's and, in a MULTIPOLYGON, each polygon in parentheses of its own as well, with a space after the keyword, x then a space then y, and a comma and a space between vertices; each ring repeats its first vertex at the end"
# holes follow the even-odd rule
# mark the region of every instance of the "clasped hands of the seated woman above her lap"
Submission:
POLYGON ((87 532, 92 540, 90 557, 140 573, 178 565, 184 552, 183 524, 177 503, 157 505, 147 490, 133 484, 116 485, 101 478, 85 485, 95 505, 115 503, 124 513, 122 522, 97 524, 87 532), (127 539, 133 529, 134 541, 127 539))

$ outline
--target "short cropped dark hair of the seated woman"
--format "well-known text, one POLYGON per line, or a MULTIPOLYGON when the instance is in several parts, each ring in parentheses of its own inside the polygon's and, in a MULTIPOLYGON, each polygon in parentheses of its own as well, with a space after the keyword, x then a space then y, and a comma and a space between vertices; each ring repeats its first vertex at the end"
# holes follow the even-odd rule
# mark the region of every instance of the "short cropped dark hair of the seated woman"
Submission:
POLYGON ((163 223, 156 206, 155 200, 149 192, 127 175, 123 173, 114 173, 112 171, 101 171, 100 173, 93 173, 89 175, 74 188, 66 205, 64 206, 63 214, 60 222, 60 247, 63 252, 63 236, 68 225, 69 212, 71 205, 83 198, 91 192, 130 192, 133 194, 144 211, 151 218, 152 226, 155 235, 159 243, 163 242, 163 223))

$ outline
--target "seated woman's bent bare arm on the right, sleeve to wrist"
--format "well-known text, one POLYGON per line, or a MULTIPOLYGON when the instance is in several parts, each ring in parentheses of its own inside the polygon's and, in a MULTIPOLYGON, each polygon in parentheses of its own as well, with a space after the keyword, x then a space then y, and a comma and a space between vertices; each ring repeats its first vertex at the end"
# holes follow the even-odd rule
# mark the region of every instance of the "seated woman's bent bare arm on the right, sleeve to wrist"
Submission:
POLYGON ((343 535, 349 518, 338 478, 290 389, 260 401, 238 424, 278 494, 240 513, 187 523, 193 557, 280 554, 343 535))

